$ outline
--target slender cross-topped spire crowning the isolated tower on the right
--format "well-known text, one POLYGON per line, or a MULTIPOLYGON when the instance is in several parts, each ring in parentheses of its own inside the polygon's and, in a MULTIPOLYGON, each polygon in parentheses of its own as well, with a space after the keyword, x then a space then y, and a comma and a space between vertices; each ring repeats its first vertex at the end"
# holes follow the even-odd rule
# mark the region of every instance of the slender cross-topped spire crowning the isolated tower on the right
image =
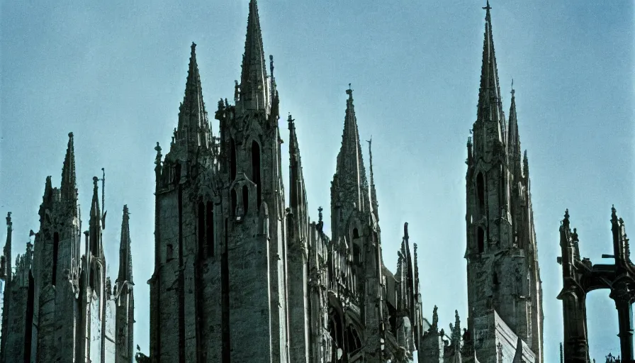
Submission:
MULTIPOLYGON (((500 86, 498 84, 498 69, 494 52, 494 39, 492 35, 492 18, 490 15, 490 2, 485 6, 485 39, 483 40, 483 65, 481 67, 481 88, 478 91, 478 115, 477 122, 485 123, 484 138, 495 137, 505 144, 505 114, 502 111, 500 98, 500 86)), ((475 130, 476 131, 476 130, 475 130)), ((479 141, 475 137, 474 143, 479 141)))

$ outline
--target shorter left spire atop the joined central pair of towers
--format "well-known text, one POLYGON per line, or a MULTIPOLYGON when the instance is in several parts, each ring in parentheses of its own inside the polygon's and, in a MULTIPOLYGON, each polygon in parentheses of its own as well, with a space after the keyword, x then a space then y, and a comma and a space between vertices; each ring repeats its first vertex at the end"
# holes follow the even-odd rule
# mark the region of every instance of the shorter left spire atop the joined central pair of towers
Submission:
POLYGON ((190 152, 198 147, 210 147, 210 123, 203 102, 201 75, 196 64, 196 44, 191 45, 190 64, 185 84, 185 95, 179 107, 179 126, 176 129, 176 145, 185 145, 190 152))

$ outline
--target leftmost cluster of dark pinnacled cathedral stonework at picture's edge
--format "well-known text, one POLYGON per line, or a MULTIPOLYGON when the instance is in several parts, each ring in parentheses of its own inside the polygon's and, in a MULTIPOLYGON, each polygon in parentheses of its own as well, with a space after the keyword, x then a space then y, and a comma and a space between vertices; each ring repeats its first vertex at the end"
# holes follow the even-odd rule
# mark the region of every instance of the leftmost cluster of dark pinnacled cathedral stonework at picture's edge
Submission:
MULTIPOLYGON (((128 208, 124 206, 119 277, 114 291, 106 277, 101 231, 99 179, 94 177, 89 229, 84 232, 75 177, 73 134, 62 186, 47 177, 40 206, 40 230, 31 231, 26 252, 11 266, 11 213, 0 259, 5 290, 0 362, 132 362, 133 295, 128 208), (117 330, 115 330, 117 328, 117 330)), ((102 179, 103 180, 103 179, 102 179)), ((103 201, 103 195, 102 195, 103 201)), ((102 202, 103 204, 103 202, 102 202)))

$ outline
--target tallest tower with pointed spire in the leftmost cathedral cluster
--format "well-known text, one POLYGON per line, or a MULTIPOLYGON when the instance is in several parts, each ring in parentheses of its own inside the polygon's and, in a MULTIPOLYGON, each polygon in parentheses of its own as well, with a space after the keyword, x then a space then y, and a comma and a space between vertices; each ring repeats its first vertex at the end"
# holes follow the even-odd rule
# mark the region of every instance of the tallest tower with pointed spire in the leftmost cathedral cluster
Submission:
MULTIPOLYGON (((53 188, 47 177, 36 235, 34 319, 37 325, 37 361, 55 362, 62 352, 75 352, 81 231, 77 206, 73 133, 69 141, 62 185, 53 188)), ((35 329, 35 328, 34 328, 35 329)))

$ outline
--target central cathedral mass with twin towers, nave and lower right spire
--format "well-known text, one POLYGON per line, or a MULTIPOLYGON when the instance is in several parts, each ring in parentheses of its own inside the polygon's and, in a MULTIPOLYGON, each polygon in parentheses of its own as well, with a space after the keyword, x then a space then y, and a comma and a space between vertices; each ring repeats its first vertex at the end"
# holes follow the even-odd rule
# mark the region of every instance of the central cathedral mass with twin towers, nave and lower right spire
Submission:
MULTIPOLYGON (((310 220, 288 116, 285 201, 279 94, 255 0, 233 104, 213 136, 191 46, 179 121, 157 143, 150 356, 138 362, 412 362, 424 320, 405 224, 398 271, 383 264, 378 203, 353 91, 331 185, 331 235, 310 220)), ((370 150, 369 142, 369 150, 370 150)), ((426 327, 427 328, 427 327, 426 327)))

